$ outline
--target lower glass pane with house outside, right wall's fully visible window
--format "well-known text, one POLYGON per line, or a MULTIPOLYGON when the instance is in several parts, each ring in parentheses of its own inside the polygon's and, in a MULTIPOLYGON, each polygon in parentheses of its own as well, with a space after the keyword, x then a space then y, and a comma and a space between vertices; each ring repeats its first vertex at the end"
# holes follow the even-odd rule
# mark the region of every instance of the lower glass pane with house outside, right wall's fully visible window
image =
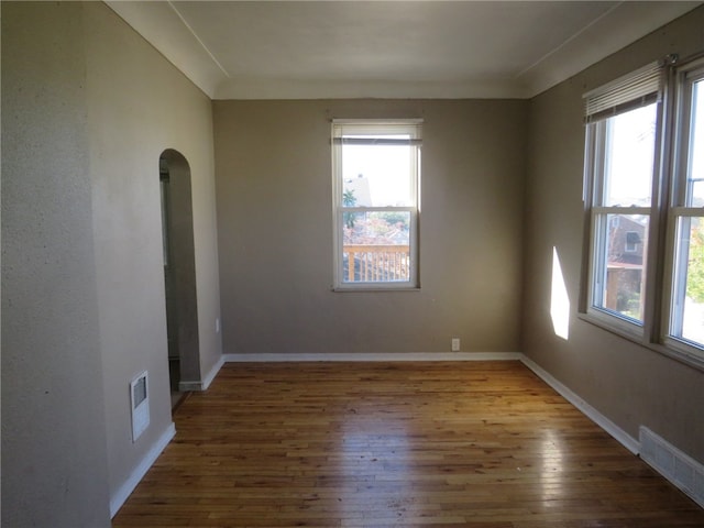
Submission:
POLYGON ((594 306, 641 322, 648 221, 642 215, 602 215, 595 238, 594 306))

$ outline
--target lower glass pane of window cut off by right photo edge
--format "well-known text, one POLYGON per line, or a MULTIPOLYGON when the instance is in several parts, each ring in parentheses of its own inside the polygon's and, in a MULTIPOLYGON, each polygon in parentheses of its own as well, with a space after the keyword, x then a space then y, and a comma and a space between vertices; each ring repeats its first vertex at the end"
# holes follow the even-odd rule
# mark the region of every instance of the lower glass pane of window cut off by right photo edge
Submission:
POLYGON ((704 221, 701 217, 680 218, 674 270, 671 333, 704 344, 704 221))

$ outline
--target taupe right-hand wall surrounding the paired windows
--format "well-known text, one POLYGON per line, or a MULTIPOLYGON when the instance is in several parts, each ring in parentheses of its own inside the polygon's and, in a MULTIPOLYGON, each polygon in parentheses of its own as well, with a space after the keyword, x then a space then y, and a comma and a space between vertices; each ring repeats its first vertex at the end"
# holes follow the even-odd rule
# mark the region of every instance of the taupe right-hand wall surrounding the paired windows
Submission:
POLYGON ((669 53, 704 50, 704 9, 654 32, 530 105, 524 352, 638 438, 645 425, 704 463, 704 373, 576 317, 582 258, 582 95, 669 53), (552 331, 552 249, 570 297, 570 334, 552 331))

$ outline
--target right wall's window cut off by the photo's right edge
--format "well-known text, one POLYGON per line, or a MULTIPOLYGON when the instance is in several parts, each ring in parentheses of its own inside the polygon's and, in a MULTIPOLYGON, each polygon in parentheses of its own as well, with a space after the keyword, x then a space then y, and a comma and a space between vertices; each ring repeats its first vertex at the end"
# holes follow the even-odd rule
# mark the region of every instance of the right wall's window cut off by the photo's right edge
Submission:
POLYGON ((668 337, 704 348, 704 67, 681 73, 668 337))

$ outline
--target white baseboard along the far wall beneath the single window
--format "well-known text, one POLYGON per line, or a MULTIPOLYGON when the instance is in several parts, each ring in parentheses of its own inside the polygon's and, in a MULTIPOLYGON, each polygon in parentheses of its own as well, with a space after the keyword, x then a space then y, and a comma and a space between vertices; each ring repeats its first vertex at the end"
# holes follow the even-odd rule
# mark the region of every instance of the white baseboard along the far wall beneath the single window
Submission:
POLYGON ((342 354, 223 354, 226 363, 310 361, 520 361, 520 352, 404 352, 342 354))

